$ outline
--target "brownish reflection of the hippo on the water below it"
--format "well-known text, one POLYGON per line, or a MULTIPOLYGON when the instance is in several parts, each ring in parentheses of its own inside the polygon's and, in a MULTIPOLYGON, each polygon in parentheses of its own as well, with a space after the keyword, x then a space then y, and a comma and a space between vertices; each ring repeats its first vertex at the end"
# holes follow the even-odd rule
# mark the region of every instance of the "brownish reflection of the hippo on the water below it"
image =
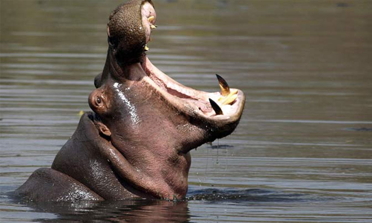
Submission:
POLYGON ((187 202, 125 200, 102 202, 29 203, 35 212, 54 213, 54 219, 35 222, 189 222, 187 202))

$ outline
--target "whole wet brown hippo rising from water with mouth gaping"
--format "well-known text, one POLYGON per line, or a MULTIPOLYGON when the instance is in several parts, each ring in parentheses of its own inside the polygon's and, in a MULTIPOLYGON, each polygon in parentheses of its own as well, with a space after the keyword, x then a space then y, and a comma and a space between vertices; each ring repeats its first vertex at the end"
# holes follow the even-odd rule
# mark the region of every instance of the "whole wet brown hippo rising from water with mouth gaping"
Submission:
POLYGON ((146 56, 157 26, 151 0, 131 0, 109 16, 108 51, 76 131, 51 168, 15 194, 28 201, 183 199, 190 150, 231 134, 245 96, 217 75, 221 91, 186 87, 146 56))

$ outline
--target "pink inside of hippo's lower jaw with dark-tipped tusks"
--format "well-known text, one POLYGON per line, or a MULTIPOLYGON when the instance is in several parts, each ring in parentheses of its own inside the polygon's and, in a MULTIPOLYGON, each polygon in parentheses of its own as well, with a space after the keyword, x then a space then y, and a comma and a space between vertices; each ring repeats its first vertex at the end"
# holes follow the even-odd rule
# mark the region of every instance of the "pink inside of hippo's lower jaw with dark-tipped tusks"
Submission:
POLYGON ((146 81, 157 92, 167 98, 178 110, 204 119, 237 119, 244 107, 244 94, 241 90, 230 89, 226 81, 217 75, 221 92, 208 93, 186 87, 155 67, 146 55, 142 68, 147 74, 146 81), (192 113, 192 114, 190 114, 192 113))

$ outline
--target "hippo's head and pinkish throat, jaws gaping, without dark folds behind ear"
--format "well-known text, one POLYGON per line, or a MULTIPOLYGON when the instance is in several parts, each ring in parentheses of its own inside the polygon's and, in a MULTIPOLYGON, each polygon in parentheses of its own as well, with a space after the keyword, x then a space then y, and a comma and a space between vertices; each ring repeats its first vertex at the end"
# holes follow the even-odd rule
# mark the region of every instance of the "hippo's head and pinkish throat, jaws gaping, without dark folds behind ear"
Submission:
POLYGON ((155 22, 151 0, 128 1, 113 10, 106 64, 94 81, 97 89, 89 95, 89 105, 102 140, 130 166, 119 175, 150 197, 182 198, 189 151, 229 135, 238 125, 245 96, 221 77, 221 92, 208 93, 158 70, 145 54, 155 22))

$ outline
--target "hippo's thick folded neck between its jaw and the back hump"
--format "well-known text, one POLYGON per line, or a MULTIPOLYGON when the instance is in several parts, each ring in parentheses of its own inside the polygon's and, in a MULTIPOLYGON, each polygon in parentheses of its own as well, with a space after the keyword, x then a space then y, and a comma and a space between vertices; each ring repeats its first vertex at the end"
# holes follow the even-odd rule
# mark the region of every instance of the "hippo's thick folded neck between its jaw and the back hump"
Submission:
MULTIPOLYGON (((143 150, 140 153, 137 151, 141 158, 135 159, 130 154, 122 153, 123 149, 116 149, 99 134, 94 117, 91 112, 81 117, 76 132, 58 152, 52 164, 53 169, 70 175, 105 199, 185 197, 189 153, 164 153, 158 157, 143 150), (99 178, 97 174, 105 176, 99 178), (106 188, 105 185, 112 186, 113 182, 115 188, 106 188)), ((130 143, 128 147, 143 149, 132 148, 130 143)))

